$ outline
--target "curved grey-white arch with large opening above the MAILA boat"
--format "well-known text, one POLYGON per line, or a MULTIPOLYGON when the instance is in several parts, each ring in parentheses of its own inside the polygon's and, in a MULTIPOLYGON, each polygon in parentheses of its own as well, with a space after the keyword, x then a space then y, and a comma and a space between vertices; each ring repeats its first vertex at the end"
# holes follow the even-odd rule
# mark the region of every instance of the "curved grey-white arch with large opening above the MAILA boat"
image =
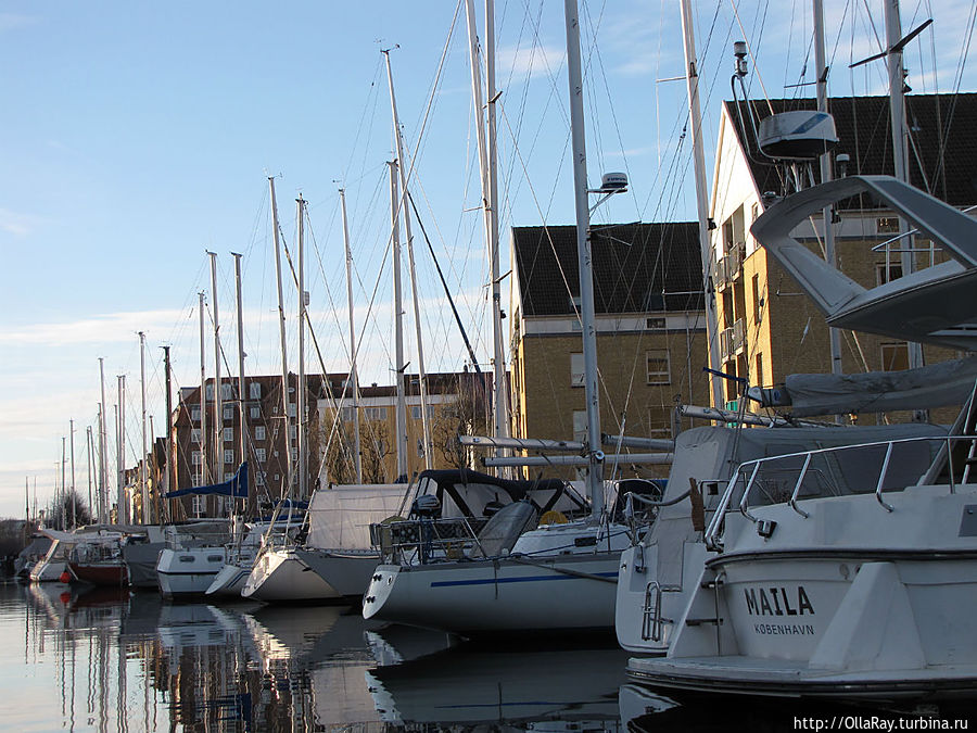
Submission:
POLYGON ((890 176, 850 176, 788 197, 750 231, 808 292, 828 325, 977 351, 977 220, 953 206, 890 176), (951 258, 870 290, 790 236, 825 206, 865 192, 909 219, 951 258))

